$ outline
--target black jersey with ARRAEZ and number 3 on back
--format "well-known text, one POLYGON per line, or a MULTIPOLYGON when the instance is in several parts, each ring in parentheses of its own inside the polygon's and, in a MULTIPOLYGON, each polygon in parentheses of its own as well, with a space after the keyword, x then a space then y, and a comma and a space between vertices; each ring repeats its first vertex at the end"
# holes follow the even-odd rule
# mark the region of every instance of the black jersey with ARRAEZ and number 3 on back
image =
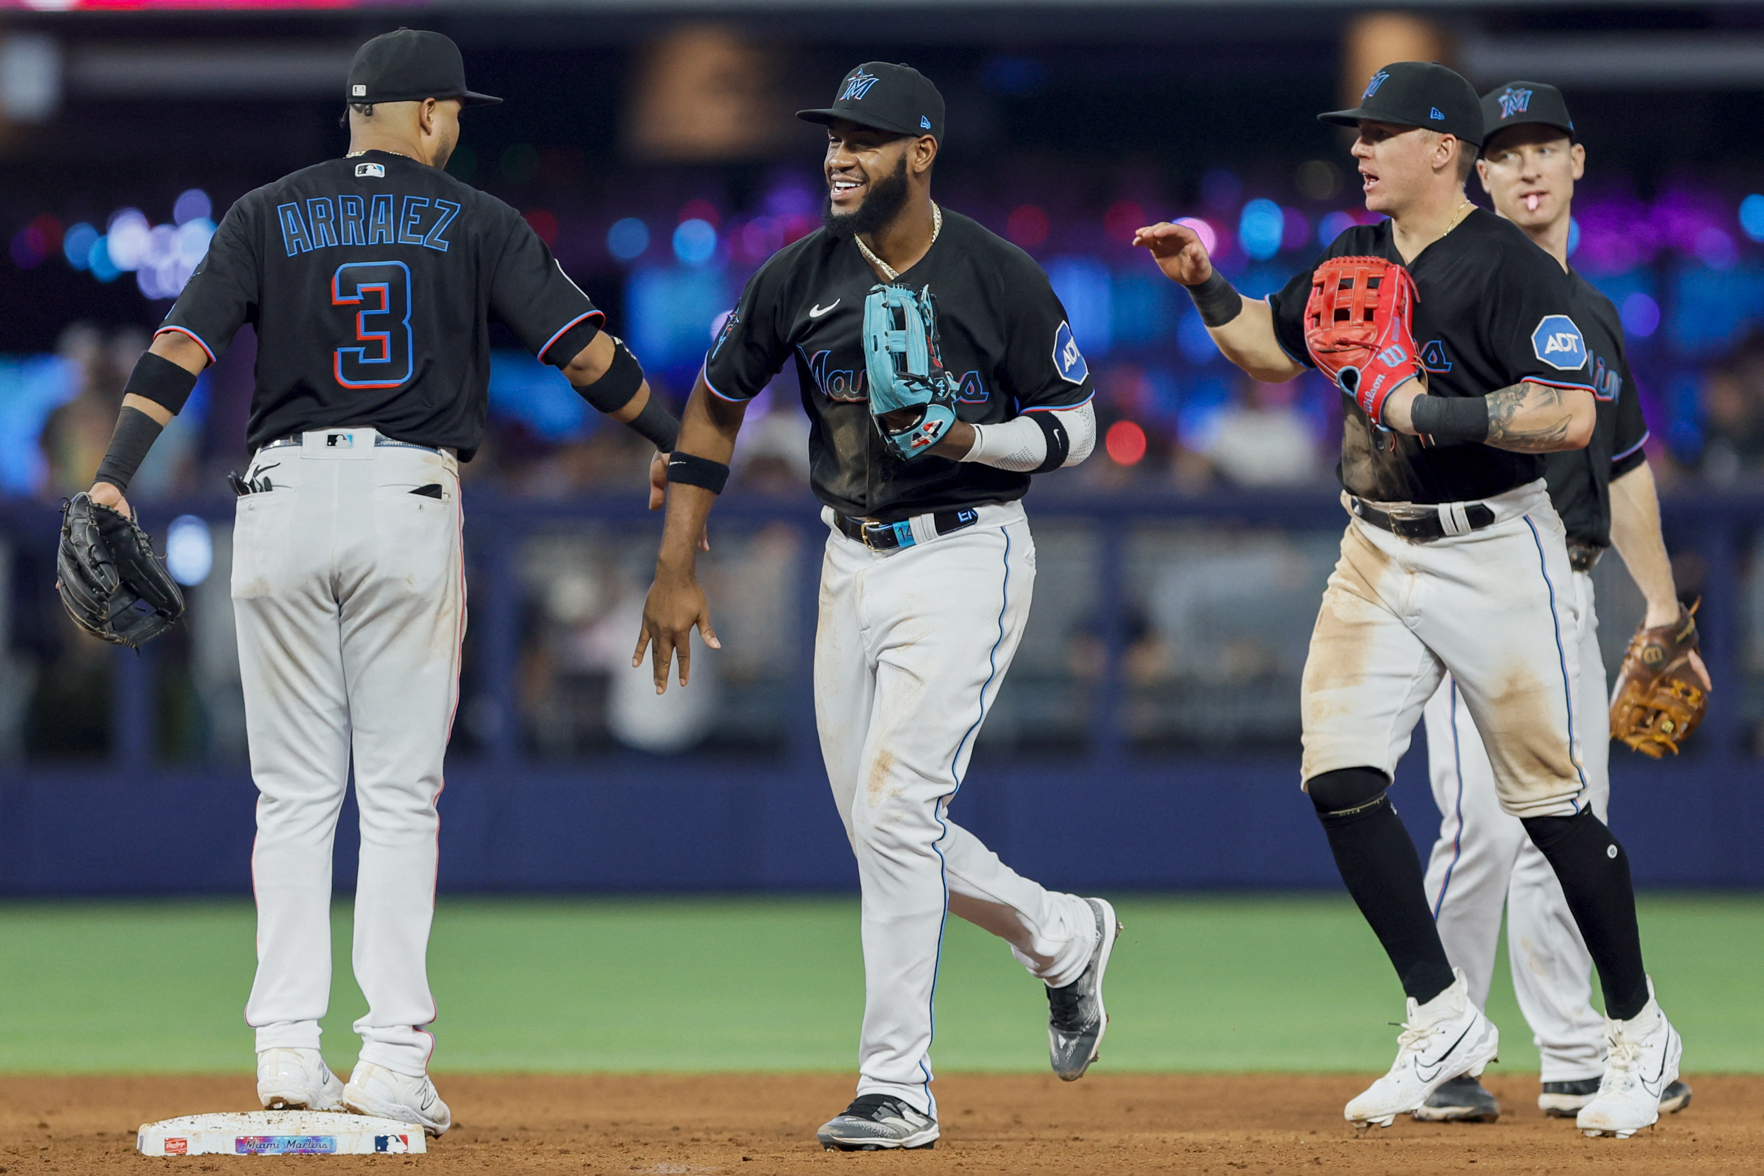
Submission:
POLYGON ((603 317, 513 208, 390 152, 333 159, 243 196, 159 331, 219 356, 258 328, 245 441, 372 425, 471 460, 496 316, 566 365, 603 317))

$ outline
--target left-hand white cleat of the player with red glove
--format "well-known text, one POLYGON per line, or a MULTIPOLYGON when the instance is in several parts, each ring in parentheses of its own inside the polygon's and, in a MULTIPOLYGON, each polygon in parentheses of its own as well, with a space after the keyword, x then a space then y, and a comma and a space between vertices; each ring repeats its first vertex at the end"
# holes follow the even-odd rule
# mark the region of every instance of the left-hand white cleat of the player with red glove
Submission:
POLYGON ((1348 1104, 1346 1118, 1358 1127, 1390 1127, 1399 1114, 1425 1105, 1445 1083, 1459 1076, 1480 1077, 1501 1051, 1501 1033, 1469 1003, 1469 984, 1452 968, 1452 987, 1425 1005, 1409 998, 1409 1016, 1397 1035, 1397 1060, 1390 1072, 1348 1104))

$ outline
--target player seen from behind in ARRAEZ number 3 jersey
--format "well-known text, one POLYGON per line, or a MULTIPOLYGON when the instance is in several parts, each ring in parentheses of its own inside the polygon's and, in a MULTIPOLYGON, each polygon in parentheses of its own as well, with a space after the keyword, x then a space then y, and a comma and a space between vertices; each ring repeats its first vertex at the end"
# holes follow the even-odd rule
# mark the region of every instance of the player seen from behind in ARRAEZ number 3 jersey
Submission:
MULTIPOLYGON (((235 474, 233 612, 250 770, 256 1028, 265 1107, 452 1123, 427 1077, 427 945, 441 760, 466 629, 459 462, 483 439, 489 319, 594 407, 670 450, 602 312, 520 215, 443 164, 466 88, 441 33, 374 37, 349 67, 349 153, 242 197, 129 377, 93 501, 123 492, 196 374, 258 330, 249 473, 235 474), (342 1084, 319 1056, 332 837, 362 811, 355 977, 367 1014, 342 1084)), ((656 464, 660 469, 662 464, 656 464)), ((653 497, 653 504, 654 504, 653 497)))

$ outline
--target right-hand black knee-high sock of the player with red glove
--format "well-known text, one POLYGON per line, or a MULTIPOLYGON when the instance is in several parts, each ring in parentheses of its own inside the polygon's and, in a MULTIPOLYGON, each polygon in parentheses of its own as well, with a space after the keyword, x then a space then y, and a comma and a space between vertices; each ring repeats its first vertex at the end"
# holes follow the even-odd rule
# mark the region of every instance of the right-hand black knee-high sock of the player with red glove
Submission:
POLYGON ((1648 1005, 1630 855, 1591 809, 1575 816, 1526 816, 1524 827, 1556 869, 1586 950, 1598 964, 1605 1016, 1628 1021, 1648 1005))

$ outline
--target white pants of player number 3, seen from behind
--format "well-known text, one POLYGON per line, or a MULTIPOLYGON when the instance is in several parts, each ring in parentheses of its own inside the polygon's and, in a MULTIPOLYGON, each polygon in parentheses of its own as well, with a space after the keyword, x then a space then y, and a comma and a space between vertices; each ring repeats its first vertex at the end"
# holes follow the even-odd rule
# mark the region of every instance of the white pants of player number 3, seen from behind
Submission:
POLYGON ((349 765, 362 813, 355 979, 362 1060, 418 1076, 434 1021, 441 758, 466 631, 459 469, 372 428, 263 450, 238 499, 233 614, 258 783, 258 1049, 318 1049, 330 1003, 332 841, 349 765), (415 494, 439 487, 441 497, 415 494))

